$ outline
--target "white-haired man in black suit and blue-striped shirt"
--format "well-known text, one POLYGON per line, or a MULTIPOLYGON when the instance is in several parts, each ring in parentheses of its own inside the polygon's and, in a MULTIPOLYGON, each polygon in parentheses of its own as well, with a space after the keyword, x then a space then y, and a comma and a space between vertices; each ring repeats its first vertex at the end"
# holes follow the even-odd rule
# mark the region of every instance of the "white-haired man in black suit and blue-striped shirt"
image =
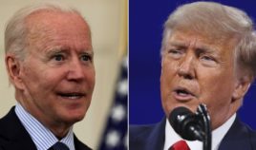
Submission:
POLYGON ((91 30, 68 6, 18 10, 5 32, 5 62, 17 104, 0 120, 1 150, 87 150, 73 132, 95 86, 91 30))

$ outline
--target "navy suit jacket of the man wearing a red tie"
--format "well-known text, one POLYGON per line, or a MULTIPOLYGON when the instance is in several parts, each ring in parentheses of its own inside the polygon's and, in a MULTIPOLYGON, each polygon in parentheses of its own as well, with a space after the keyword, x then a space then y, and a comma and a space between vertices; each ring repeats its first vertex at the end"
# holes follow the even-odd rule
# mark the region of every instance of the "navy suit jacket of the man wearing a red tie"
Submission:
MULTIPOLYGON (((130 125, 130 150, 163 149, 165 122, 166 119, 153 125, 130 125)), ((224 136, 219 150, 256 150, 256 132, 237 117, 224 136)))

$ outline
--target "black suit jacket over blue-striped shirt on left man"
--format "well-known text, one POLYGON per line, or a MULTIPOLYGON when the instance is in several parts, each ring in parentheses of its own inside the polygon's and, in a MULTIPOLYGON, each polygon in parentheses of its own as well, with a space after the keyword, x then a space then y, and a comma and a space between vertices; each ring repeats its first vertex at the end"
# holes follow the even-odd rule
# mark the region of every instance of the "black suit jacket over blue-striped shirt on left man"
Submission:
MULTIPOLYGON (((75 150, 90 150, 75 137, 75 150)), ((0 120, 0 150, 36 150, 30 134, 14 112, 11 111, 0 120)))

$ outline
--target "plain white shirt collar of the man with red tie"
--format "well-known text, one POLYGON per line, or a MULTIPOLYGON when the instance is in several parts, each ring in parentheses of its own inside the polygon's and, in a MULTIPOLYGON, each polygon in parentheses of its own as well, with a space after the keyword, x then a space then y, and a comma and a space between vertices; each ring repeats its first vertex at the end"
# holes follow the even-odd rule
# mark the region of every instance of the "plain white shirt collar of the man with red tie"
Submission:
MULTIPOLYGON (((223 125, 212 131, 212 149, 218 150, 224 135, 227 133, 233 122, 236 114, 232 115, 223 125)), ((175 142, 181 141, 181 137, 174 131, 168 120, 165 123, 165 141, 163 150, 168 150, 175 142)), ((184 141, 184 140, 183 140, 184 141)), ((203 150, 202 141, 186 141, 191 150, 203 150)))

